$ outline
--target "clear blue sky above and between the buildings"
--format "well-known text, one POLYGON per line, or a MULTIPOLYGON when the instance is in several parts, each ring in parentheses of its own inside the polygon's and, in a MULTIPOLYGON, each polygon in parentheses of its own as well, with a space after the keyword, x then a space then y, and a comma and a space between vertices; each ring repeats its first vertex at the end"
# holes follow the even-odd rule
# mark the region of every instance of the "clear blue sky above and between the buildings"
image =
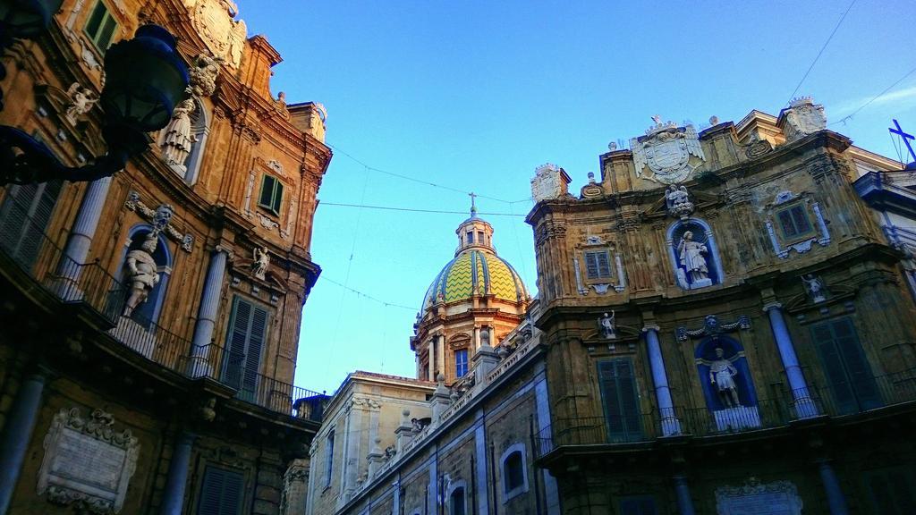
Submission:
MULTIPOLYGON (((778 114, 849 3, 566 0, 240 0, 249 35, 284 62, 272 90, 328 109, 336 148, 315 216, 323 268, 304 310, 296 383, 335 389, 348 371, 413 376, 409 336, 423 293, 453 257, 464 214, 385 212, 357 203, 527 214, 533 170, 598 171, 607 143, 650 115, 738 121, 778 114), (433 182, 432 187, 367 170, 433 182), (453 190, 461 192, 454 192, 453 190), (344 290, 345 283, 386 305, 344 290), (398 305, 393 305, 398 304, 398 305), (399 306, 408 306, 405 309, 399 306)), ((912 5, 858 0, 798 94, 834 123, 907 71, 912 5)), ((896 157, 891 118, 916 132, 916 73, 830 128, 896 157)), ((523 216, 485 215, 502 257, 535 290, 523 216)))

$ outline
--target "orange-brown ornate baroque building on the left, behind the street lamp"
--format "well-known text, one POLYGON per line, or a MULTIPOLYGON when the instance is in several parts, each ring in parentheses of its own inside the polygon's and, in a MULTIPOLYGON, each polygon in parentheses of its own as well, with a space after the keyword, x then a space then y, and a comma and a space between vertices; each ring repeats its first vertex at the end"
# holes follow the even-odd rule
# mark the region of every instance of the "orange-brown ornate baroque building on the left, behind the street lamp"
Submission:
POLYGON ((323 397, 292 386, 331 151, 229 0, 65 0, 3 56, 3 123, 76 166, 114 42, 179 40, 188 100, 125 170, 0 189, 0 513, 305 506, 323 397))

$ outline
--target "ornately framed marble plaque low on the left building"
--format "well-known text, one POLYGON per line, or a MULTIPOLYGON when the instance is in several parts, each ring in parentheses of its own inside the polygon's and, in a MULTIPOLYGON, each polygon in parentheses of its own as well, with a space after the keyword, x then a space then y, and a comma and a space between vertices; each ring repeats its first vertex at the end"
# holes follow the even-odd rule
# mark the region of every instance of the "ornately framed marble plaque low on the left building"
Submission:
POLYGON ((129 431, 115 432, 113 425, 111 414, 102 410, 88 419, 78 408, 59 411, 45 436, 38 495, 100 515, 119 512, 139 444, 129 431))

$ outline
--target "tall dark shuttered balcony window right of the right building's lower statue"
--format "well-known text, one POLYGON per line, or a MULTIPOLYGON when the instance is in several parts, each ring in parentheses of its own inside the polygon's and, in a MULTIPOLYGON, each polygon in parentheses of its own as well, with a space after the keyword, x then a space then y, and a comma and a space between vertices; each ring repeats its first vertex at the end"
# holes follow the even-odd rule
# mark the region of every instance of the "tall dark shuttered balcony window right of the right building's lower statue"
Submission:
POLYGON ((818 323, 812 326, 812 339, 821 356, 836 411, 852 413, 883 404, 852 319, 818 323))

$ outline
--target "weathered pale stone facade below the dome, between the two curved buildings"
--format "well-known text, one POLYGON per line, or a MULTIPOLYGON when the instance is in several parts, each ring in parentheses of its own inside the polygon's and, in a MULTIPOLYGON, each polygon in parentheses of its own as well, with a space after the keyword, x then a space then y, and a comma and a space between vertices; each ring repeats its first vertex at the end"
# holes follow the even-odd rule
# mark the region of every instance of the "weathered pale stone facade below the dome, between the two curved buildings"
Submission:
POLYGON ((433 389, 426 381, 351 374, 312 446, 307 513, 559 513, 556 483, 533 461, 535 435, 550 423, 540 333, 520 324, 497 348, 482 345, 473 381, 453 389, 442 376, 433 389), (414 394, 404 395, 410 383, 414 394), (372 391, 376 401, 357 406, 365 395, 357 391, 372 391), (376 405, 382 414, 373 417, 376 405), (358 412, 362 406, 368 416, 358 412))

